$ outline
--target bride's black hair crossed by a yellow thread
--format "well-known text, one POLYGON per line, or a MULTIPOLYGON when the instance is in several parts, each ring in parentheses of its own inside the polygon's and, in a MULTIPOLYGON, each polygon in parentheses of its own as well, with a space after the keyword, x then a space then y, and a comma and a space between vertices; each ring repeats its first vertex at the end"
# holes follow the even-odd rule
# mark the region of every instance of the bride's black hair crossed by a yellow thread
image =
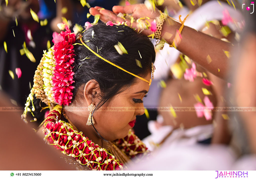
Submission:
MULTIPOLYGON (((83 42, 94 52, 123 69, 141 77, 145 77, 151 72, 152 62, 154 63, 155 61, 154 46, 148 37, 136 33, 132 28, 127 26, 106 26, 99 23, 91 26, 81 35, 83 42), (94 32, 93 36, 92 31, 94 32), (114 45, 118 44, 118 42, 124 46, 128 54, 120 55, 116 51, 114 45), (136 59, 140 61, 141 66, 137 65, 136 59)), ((76 43, 81 44, 80 39, 76 43)), ((73 89, 72 101, 83 97, 84 86, 89 80, 96 80, 100 87, 101 93, 97 96, 100 98, 100 102, 96 104, 92 116, 107 100, 131 86, 136 79, 133 75, 100 59, 85 46, 74 45, 74 51, 76 56, 72 66, 75 82, 72 85, 75 88, 73 89)), ((39 107, 38 101, 40 100, 34 97, 36 111, 33 113, 40 124, 44 120, 44 113, 39 111, 41 107, 46 105, 41 102, 41 107, 39 107)))

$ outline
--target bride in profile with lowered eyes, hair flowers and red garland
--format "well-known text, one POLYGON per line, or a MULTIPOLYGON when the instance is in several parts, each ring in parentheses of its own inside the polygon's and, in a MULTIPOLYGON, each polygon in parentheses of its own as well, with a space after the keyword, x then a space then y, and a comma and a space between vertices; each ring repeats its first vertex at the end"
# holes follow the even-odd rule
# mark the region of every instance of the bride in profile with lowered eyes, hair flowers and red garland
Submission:
POLYGON ((144 114, 153 44, 113 24, 88 24, 77 34, 66 27, 52 41, 35 71, 23 120, 33 116, 44 140, 79 170, 125 169, 123 163, 147 149, 131 128, 144 114))

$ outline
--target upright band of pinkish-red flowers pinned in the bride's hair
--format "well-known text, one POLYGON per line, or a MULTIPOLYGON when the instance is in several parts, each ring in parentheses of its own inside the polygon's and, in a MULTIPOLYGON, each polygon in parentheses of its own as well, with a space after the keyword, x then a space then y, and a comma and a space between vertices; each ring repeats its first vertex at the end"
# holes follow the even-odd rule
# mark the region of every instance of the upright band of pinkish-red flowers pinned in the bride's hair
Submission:
POLYGON ((76 41, 76 35, 66 27, 66 31, 53 33, 55 69, 52 77, 52 91, 54 102, 59 105, 69 105, 73 96, 74 83, 71 66, 74 63, 73 43, 76 41))

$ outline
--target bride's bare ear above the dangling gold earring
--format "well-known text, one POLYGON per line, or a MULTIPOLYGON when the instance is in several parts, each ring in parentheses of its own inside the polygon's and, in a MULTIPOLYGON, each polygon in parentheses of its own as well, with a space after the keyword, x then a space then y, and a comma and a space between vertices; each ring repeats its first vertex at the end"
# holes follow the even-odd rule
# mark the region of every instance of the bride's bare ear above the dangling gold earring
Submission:
POLYGON ((97 103, 99 94, 100 86, 96 80, 92 79, 85 84, 83 96, 88 106, 97 103))

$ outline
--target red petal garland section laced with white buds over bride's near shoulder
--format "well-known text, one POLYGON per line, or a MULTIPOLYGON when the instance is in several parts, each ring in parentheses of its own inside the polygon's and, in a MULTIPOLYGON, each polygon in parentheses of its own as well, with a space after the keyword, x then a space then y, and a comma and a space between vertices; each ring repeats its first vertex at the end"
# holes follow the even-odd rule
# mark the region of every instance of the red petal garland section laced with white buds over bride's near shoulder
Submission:
POLYGON ((72 129, 69 123, 57 121, 61 106, 57 105, 48 114, 43 132, 48 144, 55 145, 63 154, 74 157, 80 164, 93 170, 121 170, 123 164, 85 137, 82 132, 72 129))

